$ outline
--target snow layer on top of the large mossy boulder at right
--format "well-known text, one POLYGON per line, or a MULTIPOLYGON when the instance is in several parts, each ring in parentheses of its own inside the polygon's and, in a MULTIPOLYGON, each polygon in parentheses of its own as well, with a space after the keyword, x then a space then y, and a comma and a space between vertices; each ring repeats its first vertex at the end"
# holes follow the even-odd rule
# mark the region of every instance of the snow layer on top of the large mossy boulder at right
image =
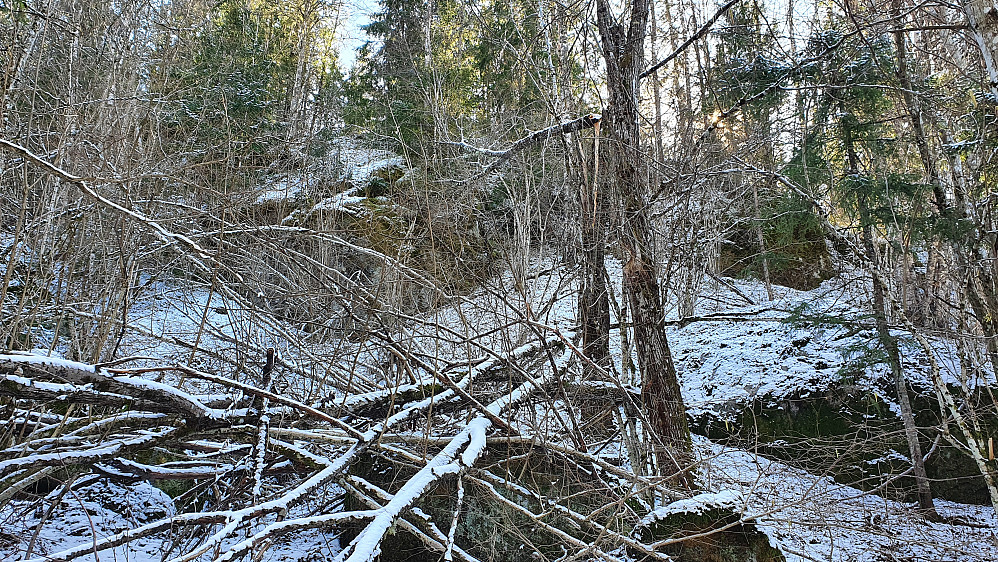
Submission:
MULTIPOLYGON (((841 380, 840 369, 852 359, 849 350, 875 345, 871 330, 854 333, 841 324, 789 321, 802 307, 813 316, 861 320, 862 295, 856 293, 863 285, 857 280, 836 278, 812 291, 774 287, 773 301, 766 300, 765 288, 757 281, 729 282, 756 304, 718 284, 713 300, 701 299, 707 303, 698 314, 701 320, 669 330, 683 397, 694 418, 710 413, 734 421, 753 400, 826 390, 841 380)), ((914 360, 922 355, 913 346, 905 351, 905 357, 914 360)), ((853 382, 882 392, 878 386, 886 373, 884 365, 862 369, 853 382)), ((911 374, 929 385, 924 369, 911 374)))

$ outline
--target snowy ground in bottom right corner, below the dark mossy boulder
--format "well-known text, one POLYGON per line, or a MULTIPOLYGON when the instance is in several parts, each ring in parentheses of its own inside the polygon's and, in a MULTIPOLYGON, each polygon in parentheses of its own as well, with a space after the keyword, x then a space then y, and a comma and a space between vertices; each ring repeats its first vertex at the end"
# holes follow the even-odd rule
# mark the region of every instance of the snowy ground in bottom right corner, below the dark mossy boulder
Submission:
POLYGON ((809 560, 998 560, 991 507, 936 500, 945 523, 901 504, 837 484, 827 476, 698 438, 711 490, 745 498, 743 512, 788 562, 809 560))

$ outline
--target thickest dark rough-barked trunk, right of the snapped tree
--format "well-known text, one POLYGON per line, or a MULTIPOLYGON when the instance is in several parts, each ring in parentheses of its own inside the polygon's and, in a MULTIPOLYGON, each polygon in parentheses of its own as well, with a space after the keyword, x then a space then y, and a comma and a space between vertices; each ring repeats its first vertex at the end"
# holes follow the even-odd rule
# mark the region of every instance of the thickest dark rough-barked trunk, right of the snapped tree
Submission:
POLYGON ((624 292, 631 307, 634 344, 641 370, 641 397, 656 440, 655 457, 663 475, 686 481, 691 451, 686 408, 665 334, 650 220, 650 190, 642 169, 638 126, 638 85, 644 63, 649 0, 633 0, 625 28, 608 0, 597 0, 596 15, 606 60, 608 105, 603 114, 607 181, 623 199, 621 245, 624 292))

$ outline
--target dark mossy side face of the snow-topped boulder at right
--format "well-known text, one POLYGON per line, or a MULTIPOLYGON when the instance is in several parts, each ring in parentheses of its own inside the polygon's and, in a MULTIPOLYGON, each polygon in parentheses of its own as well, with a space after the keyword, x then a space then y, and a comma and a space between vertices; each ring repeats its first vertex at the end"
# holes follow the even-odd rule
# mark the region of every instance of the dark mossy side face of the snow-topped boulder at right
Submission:
MULTIPOLYGON (((939 406, 931 396, 913 392, 912 402, 919 427, 939 425, 939 406)), ((998 434, 996 416, 980 419, 985 426, 982 431, 998 434)), ((916 499, 911 477, 893 478, 911 466, 901 420, 880 395, 856 386, 843 383, 823 393, 756 400, 734 422, 705 417, 694 420, 694 431, 814 474, 827 474, 843 484, 876 490, 899 501, 916 499), (893 478, 889 485, 882 486, 889 478, 893 478)), ((923 433, 923 451, 929 450, 930 438, 928 431, 923 433)), ((940 443, 926 470, 935 497, 990 503, 974 461, 951 445, 940 443)))

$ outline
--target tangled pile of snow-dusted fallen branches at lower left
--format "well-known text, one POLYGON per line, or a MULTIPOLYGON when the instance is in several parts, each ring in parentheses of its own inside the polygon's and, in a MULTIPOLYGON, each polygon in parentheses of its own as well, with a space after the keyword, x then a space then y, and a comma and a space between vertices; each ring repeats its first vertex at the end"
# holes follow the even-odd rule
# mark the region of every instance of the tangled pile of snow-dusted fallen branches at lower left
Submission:
POLYGON ((611 553, 627 547, 666 558, 629 532, 655 484, 569 445, 563 418, 572 405, 546 398, 573 349, 551 338, 492 355, 450 373, 423 364, 433 383, 314 405, 271 390, 272 350, 259 384, 182 365, 2 355, 0 504, 44 503, 32 493, 43 480, 66 490, 94 479, 188 482, 176 515, 60 552, 20 553, 37 562, 156 537, 172 541, 164 559, 173 562, 256 560, 307 529, 346 533, 338 561, 374 560, 397 540, 393 529, 446 560, 485 560, 496 553, 474 533, 486 516, 497 526, 520 522, 511 540, 527 555, 615 560, 611 553), (552 352, 554 361, 543 359, 552 352), (537 367, 522 376, 515 364, 537 367), (498 382, 502 371, 507 380, 498 382), (561 420, 560 430, 524 423, 541 410, 548 422, 561 420), (317 510, 311 500, 320 494, 333 499, 317 510))

